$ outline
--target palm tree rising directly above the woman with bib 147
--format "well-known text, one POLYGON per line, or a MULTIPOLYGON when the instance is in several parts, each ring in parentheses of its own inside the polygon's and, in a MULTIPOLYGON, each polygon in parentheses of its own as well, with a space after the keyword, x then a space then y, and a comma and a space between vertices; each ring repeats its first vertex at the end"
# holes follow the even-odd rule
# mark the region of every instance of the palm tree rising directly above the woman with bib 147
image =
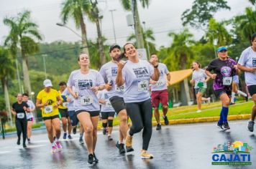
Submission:
POLYGON ((86 23, 83 20, 83 14, 88 14, 91 10, 91 2, 89 0, 65 0, 62 4, 61 19, 66 24, 68 19, 73 18, 76 28, 81 28, 83 51, 89 55, 88 40, 86 32, 86 23))

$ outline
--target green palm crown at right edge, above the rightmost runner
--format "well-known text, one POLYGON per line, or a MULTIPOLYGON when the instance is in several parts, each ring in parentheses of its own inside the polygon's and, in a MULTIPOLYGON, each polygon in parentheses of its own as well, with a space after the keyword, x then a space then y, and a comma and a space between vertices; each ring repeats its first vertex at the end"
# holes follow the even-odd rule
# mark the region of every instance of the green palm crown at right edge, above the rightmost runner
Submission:
POLYGON ((252 8, 246 8, 244 15, 237 16, 235 23, 238 25, 238 30, 242 33, 242 37, 249 39, 256 32, 256 11, 252 8))

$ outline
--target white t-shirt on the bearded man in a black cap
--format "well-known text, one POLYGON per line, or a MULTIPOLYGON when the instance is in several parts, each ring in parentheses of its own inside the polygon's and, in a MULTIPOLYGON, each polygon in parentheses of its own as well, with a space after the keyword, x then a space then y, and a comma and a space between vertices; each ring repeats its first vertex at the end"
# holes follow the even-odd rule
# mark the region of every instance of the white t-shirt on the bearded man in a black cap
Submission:
POLYGON ((104 78, 105 83, 112 83, 111 90, 107 91, 109 98, 113 96, 123 97, 124 95, 124 85, 122 87, 117 87, 116 85, 117 69, 117 64, 108 62, 99 70, 99 73, 104 78))

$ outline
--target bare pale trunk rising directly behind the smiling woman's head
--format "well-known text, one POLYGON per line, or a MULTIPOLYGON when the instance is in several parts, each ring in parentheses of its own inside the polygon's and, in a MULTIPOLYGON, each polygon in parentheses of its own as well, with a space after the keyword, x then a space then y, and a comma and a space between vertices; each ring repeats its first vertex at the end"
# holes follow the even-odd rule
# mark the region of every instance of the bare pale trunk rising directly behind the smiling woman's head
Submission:
POLYGON ((138 6, 137 6, 137 1, 133 1, 133 8, 134 8, 134 28, 135 28, 135 35, 137 36, 137 48, 145 48, 144 47, 144 40, 143 40, 143 30, 142 26, 140 24, 140 16, 139 16, 139 11, 138 11, 138 6))

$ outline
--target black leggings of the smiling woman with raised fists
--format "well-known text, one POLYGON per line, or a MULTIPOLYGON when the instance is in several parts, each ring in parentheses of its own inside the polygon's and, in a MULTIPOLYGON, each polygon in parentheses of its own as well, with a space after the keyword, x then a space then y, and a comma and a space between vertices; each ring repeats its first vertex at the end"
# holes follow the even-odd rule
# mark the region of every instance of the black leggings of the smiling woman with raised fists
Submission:
POLYGON ((132 127, 129 130, 129 135, 137 132, 142 132, 142 149, 147 150, 150 144, 152 135, 152 105, 151 101, 145 100, 143 102, 126 103, 127 114, 132 120, 132 127))

